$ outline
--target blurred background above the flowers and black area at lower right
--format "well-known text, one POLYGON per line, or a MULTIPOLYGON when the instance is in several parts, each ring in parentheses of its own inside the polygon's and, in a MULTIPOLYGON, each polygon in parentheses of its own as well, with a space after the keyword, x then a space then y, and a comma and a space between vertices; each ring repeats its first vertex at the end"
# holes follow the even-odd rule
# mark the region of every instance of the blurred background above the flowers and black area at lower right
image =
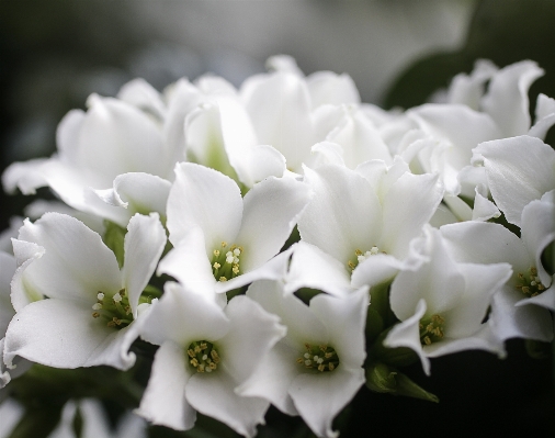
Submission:
MULTIPOLYGON (((555 97, 554 29, 553 0, 0 0, 0 170, 49 156, 59 120, 91 92, 115 96, 136 77, 162 90, 204 72, 239 86, 275 54, 305 74, 348 72, 364 102, 384 108, 423 103, 478 58, 533 59, 546 70, 534 102, 555 97)), ((2 193, 0 229, 31 200, 2 193)), ((363 389, 342 436, 555 433, 553 358, 532 359, 523 341, 503 361, 465 352, 433 360, 431 378, 408 374, 441 403, 363 389)))

